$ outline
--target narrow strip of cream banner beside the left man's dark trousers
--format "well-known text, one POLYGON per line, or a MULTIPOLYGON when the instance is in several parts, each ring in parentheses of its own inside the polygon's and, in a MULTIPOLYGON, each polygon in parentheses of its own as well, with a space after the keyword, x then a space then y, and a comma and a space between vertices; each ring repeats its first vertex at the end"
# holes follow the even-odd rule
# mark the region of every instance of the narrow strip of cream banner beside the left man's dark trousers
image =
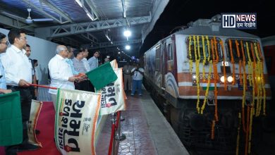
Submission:
POLYGON ((42 101, 32 100, 30 108, 30 119, 27 123, 27 136, 29 137, 29 143, 42 147, 42 144, 37 141, 35 134, 35 128, 38 120, 39 113, 42 109, 42 101))

